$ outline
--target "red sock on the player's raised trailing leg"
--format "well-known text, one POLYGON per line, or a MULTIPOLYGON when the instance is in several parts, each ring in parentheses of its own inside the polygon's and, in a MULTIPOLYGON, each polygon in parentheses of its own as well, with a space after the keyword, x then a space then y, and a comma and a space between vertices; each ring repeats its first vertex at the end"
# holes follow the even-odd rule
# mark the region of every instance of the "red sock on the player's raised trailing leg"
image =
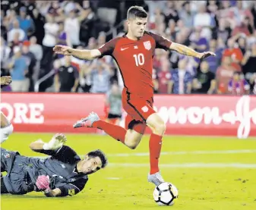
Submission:
POLYGON ((109 136, 112 136, 114 139, 122 143, 125 143, 125 134, 127 131, 125 128, 115 124, 107 123, 105 121, 95 121, 93 123, 93 127, 104 130, 105 133, 109 134, 109 136))

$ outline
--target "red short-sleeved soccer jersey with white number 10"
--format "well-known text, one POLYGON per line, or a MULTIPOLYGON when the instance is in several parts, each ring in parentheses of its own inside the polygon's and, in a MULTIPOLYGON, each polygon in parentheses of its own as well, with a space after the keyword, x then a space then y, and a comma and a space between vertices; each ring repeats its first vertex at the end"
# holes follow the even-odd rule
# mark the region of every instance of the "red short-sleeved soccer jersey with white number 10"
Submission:
POLYGON ((153 97, 153 54, 155 49, 169 49, 172 44, 163 36, 145 31, 140 40, 126 35, 100 47, 102 56, 111 55, 119 65, 127 92, 143 99, 153 97))

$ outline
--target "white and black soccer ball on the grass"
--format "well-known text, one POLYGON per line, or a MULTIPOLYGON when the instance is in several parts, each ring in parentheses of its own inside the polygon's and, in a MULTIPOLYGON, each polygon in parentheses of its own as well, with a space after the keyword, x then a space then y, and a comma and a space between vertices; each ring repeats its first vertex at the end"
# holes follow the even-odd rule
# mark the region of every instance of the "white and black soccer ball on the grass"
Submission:
POLYGON ((178 190, 172 183, 160 183, 153 191, 153 199, 158 205, 173 205, 177 198, 178 190))

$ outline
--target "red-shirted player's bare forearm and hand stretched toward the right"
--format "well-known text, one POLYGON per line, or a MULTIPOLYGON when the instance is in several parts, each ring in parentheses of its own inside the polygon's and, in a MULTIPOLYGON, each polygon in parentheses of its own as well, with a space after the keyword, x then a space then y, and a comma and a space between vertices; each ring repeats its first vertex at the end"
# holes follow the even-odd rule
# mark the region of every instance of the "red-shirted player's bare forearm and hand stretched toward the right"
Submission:
POLYGON ((194 49, 191 49, 186 45, 182 45, 175 42, 172 42, 172 44, 169 46, 169 49, 174 50, 175 52, 178 52, 179 54, 182 54, 182 55, 188 55, 188 56, 192 56, 200 59, 207 58, 211 55, 216 56, 214 52, 202 52, 202 53, 196 52, 194 49))

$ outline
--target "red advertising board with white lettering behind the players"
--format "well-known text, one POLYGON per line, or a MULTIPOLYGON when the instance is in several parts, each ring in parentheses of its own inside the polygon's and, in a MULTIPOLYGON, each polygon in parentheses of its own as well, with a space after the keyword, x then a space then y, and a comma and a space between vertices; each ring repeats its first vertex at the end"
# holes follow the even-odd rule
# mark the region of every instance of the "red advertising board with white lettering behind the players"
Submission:
MULTIPOLYGON (((256 136, 255 96, 156 95, 154 105, 166 134, 256 136)), ((2 93, 1 110, 16 132, 95 133, 72 125, 90 111, 105 117, 104 96, 94 94, 2 93)))

